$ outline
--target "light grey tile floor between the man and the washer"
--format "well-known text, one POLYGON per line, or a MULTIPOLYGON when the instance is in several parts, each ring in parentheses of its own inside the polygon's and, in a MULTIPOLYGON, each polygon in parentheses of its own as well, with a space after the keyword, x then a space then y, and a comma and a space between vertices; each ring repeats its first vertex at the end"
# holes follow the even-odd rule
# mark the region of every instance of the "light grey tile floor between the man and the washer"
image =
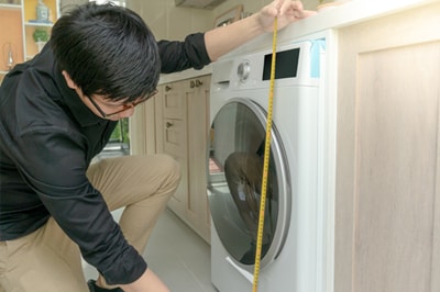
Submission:
MULTIPOLYGON (((113 212, 116 220, 120 212, 113 212)), ((144 257, 173 292, 216 292, 210 281, 210 247, 173 212, 160 217, 144 257)), ((84 262, 86 279, 97 271, 84 262)))

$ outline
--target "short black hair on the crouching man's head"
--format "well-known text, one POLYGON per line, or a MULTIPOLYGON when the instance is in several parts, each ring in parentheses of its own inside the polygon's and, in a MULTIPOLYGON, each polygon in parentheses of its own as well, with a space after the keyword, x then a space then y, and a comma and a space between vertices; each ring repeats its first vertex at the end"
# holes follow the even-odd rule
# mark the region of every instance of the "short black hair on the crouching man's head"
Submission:
POLYGON ((157 44, 145 22, 130 9, 89 2, 57 20, 51 47, 85 96, 127 102, 157 86, 157 44))

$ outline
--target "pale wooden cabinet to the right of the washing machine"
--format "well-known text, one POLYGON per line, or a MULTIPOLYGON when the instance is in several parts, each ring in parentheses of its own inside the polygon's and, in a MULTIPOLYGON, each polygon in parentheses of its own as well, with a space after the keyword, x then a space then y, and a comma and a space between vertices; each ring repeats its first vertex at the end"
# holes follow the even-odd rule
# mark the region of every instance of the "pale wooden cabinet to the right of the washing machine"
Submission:
POLYGON ((439 12, 338 31, 334 291, 440 291, 439 12))

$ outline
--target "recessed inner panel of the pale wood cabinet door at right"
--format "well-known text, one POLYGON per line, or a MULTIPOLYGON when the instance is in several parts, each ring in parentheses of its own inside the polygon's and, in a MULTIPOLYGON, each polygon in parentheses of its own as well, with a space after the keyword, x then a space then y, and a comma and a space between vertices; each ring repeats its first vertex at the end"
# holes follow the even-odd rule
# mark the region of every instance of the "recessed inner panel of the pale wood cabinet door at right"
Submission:
POLYGON ((354 291, 431 291, 439 52, 359 56, 354 291))

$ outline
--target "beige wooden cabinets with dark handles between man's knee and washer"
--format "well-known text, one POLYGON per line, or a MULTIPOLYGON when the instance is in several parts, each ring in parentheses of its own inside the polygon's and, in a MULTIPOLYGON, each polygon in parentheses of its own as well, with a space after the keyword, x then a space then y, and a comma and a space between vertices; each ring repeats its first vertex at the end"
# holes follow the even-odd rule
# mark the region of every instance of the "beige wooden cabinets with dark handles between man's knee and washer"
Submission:
MULTIPOLYGON (((209 133, 210 76, 161 85, 154 104, 155 153, 165 153, 180 162, 182 180, 168 207, 206 242, 210 242, 210 213, 206 188, 209 133)), ((148 109, 150 108, 150 109, 148 109)), ((145 114, 145 116, 148 116, 145 114)), ((144 144, 146 145, 146 143, 144 144)), ((151 149, 153 147, 146 147, 151 149)))

